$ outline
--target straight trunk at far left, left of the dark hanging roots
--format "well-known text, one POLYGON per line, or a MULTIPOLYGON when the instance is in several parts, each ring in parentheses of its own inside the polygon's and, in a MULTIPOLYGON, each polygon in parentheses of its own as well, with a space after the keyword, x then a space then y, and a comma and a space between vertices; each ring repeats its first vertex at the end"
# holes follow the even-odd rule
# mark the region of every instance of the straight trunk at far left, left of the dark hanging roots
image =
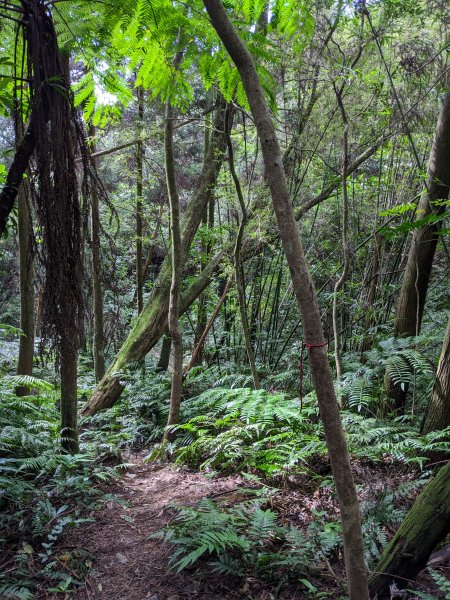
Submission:
MULTIPOLYGON (((26 179, 18 194, 19 216, 19 279, 20 279, 20 329, 18 375, 33 374, 34 355, 34 252, 31 221, 31 190, 26 179)), ((18 396, 29 394, 26 387, 16 389, 18 396)))

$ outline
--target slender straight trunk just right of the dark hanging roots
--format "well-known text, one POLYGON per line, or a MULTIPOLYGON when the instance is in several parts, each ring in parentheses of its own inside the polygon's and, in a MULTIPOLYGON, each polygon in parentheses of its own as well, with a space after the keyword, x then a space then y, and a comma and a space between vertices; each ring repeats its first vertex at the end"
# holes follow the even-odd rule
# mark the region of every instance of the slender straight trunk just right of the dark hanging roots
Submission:
MULTIPOLYGON (((91 151, 95 154, 95 127, 89 126, 91 151)), ((96 166, 96 159, 92 159, 96 166)), ((100 244, 100 206, 98 190, 94 187, 91 196, 91 244, 92 244, 92 296, 94 316, 94 339, 92 352, 94 356, 95 381, 100 381, 105 374, 105 333, 102 289, 102 254, 100 244)))

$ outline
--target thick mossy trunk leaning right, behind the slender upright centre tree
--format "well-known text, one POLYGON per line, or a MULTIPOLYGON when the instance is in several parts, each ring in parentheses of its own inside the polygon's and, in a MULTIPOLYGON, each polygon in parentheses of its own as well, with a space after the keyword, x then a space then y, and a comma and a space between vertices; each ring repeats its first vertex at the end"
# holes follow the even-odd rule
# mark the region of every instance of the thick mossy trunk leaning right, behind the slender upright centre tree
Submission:
MULTIPOLYGON (((181 265, 184 265, 190 245, 200 224, 203 211, 210 198, 222 165, 225 136, 223 133, 223 103, 217 110, 214 131, 211 136, 209 152, 205 157, 196 192, 186 208, 181 230, 181 265)), ((102 381, 98 384, 92 398, 84 406, 83 414, 92 415, 98 410, 109 408, 120 397, 123 386, 120 383, 122 369, 145 357, 147 352, 158 342, 167 326, 172 268, 170 259, 166 258, 153 287, 147 304, 122 345, 113 364, 109 367, 102 381)))

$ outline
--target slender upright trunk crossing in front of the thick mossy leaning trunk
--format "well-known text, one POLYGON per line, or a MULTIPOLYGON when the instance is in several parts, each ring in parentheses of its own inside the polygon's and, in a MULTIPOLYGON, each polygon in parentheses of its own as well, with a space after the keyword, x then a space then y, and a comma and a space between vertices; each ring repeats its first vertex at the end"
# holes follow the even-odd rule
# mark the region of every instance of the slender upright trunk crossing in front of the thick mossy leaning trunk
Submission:
MULTIPOLYGON (((179 52, 174 63, 180 62, 182 54, 179 52)), ((173 347, 173 371, 172 387, 170 391, 170 406, 167 425, 175 425, 180 420, 181 392, 183 387, 183 337, 180 329, 180 290, 182 270, 182 247, 181 247, 181 225, 180 225, 180 200, 178 197, 177 184, 175 180, 175 160, 173 151, 173 120, 175 112, 166 103, 166 124, 164 131, 164 150, 166 162, 167 193, 170 207, 170 241, 172 262, 172 283, 170 286, 168 325, 169 334, 173 347)), ((164 438, 170 440, 173 433, 166 429, 164 438)))

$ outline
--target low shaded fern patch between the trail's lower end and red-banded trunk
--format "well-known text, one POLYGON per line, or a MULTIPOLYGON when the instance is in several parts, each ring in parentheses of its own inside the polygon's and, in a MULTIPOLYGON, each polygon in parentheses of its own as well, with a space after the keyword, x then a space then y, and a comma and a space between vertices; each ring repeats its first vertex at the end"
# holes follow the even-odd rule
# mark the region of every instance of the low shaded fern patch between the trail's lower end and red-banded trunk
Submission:
POLYGON ((177 507, 175 518, 157 534, 173 545, 172 567, 181 571, 201 561, 217 573, 252 574, 281 583, 315 572, 318 558, 339 546, 340 526, 314 522, 303 532, 281 525, 267 508, 275 492, 240 490, 250 499, 230 507, 209 499, 195 507, 177 507))

